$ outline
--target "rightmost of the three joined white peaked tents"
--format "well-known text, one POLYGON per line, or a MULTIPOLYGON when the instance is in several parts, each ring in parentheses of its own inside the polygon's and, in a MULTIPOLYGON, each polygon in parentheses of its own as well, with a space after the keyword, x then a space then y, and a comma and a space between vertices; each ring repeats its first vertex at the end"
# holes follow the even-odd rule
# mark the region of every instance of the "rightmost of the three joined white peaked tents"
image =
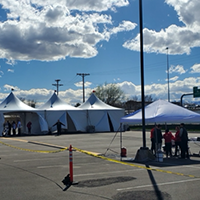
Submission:
POLYGON ((105 104, 94 93, 79 108, 87 111, 87 127, 94 127, 96 132, 117 131, 124 116, 124 109, 105 104))

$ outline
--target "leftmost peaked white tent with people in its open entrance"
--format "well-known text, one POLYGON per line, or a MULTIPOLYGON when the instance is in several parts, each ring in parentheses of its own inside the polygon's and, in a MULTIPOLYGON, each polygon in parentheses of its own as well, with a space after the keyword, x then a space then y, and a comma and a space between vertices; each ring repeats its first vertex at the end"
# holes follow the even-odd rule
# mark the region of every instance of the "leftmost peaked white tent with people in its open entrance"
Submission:
MULTIPOLYGON (((19 100, 12 92, 7 96, 7 98, 0 104, 0 127, 4 123, 3 115, 12 115, 14 118, 20 118, 22 124, 22 132, 27 132, 26 124, 28 121, 32 122, 31 133, 40 133, 47 131, 47 124, 45 120, 40 116, 36 109, 26 105, 21 100, 19 100)), ((0 130, 2 133, 3 130, 0 130)))

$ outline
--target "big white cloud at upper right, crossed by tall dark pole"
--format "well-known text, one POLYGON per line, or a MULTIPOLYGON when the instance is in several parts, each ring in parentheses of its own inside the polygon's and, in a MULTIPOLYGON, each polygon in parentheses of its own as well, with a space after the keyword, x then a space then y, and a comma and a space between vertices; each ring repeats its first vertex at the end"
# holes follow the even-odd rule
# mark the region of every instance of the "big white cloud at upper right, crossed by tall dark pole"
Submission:
MULTIPOLYGON (((144 28, 144 51, 166 54, 190 54, 191 48, 200 46, 200 4, 199 0, 166 0, 173 6, 179 16, 179 20, 185 26, 175 24, 160 31, 144 28)), ((140 35, 126 41, 123 46, 133 51, 140 50, 140 35)))

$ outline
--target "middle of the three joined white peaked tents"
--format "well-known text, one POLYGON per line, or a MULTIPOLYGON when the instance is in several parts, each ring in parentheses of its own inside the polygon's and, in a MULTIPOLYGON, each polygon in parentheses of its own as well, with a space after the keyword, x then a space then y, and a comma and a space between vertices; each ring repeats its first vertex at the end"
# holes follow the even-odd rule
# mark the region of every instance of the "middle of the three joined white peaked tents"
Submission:
POLYGON ((86 130, 86 113, 80 108, 73 107, 61 100, 56 93, 42 106, 38 108, 39 113, 46 119, 51 131, 55 131, 56 127, 52 127, 58 120, 65 126, 68 132, 85 132, 86 130))

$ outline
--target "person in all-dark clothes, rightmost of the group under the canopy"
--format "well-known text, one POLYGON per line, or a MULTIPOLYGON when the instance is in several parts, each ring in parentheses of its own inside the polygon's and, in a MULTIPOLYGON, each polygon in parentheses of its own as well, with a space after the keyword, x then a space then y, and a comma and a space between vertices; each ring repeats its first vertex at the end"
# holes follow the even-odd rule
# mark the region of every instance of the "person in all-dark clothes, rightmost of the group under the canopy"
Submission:
POLYGON ((188 132, 185 128, 184 123, 180 124, 180 138, 181 138, 181 158, 185 158, 185 156, 189 159, 188 152, 188 132))

